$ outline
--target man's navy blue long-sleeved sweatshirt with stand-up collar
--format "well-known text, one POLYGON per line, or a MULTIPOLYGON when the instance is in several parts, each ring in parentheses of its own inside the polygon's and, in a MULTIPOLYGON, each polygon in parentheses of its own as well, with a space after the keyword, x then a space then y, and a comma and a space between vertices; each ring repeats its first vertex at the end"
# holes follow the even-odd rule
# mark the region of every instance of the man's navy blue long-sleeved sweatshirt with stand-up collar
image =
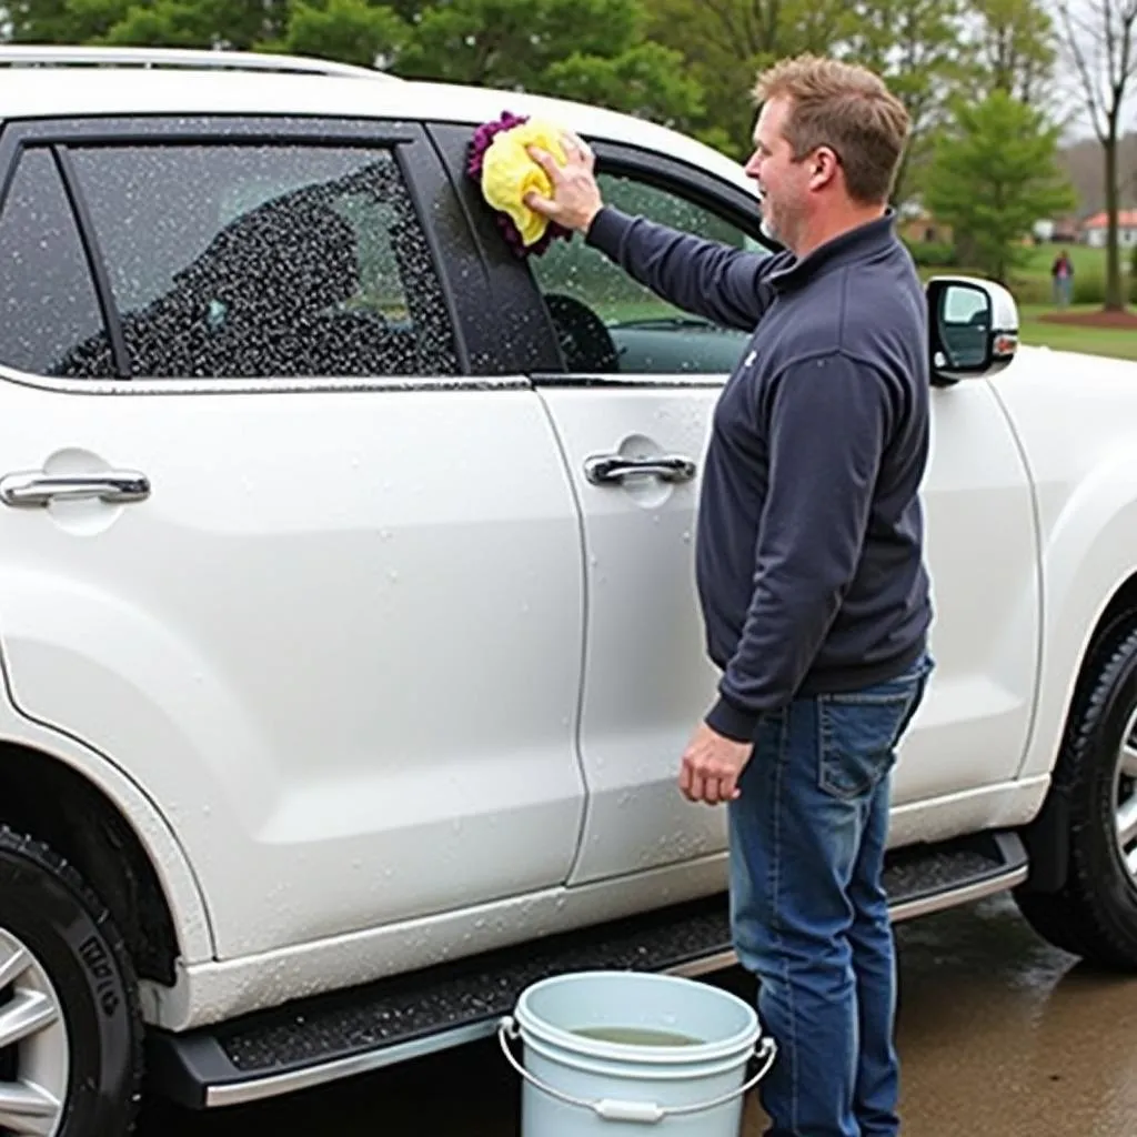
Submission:
POLYGON ((697 581, 722 671, 707 723, 750 741, 795 697, 901 674, 931 622, 929 372, 924 293, 893 217, 802 259, 612 207, 587 241, 677 307, 754 331, 703 473, 697 581))

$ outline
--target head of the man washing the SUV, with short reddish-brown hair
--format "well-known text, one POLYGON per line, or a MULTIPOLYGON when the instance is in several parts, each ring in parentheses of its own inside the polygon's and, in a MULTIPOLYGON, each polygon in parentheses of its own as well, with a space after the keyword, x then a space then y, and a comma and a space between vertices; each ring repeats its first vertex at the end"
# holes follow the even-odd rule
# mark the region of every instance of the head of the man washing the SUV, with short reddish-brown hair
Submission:
POLYGON ((754 96, 761 111, 746 171, 774 236, 802 251, 810 234, 883 211, 911 121, 879 76, 802 56, 760 75, 754 96))

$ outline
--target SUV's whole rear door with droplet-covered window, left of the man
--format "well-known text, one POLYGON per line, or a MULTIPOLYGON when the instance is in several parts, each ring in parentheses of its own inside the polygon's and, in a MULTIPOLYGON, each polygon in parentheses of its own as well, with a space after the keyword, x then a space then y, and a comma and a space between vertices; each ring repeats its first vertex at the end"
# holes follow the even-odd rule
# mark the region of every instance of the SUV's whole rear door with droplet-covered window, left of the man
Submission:
POLYGON ((564 881, 579 521, 541 400, 456 332, 484 276, 421 131, 0 141, 19 709, 166 813, 223 958, 564 881))

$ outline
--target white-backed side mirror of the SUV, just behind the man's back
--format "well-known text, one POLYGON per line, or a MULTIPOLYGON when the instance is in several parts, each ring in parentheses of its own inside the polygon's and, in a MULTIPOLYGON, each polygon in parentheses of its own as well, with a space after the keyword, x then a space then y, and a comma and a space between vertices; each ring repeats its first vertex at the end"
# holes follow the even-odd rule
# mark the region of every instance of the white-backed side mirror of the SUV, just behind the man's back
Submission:
POLYGON ((924 289, 932 382, 996 375, 1019 349, 1019 309, 1002 284, 933 276, 924 289))

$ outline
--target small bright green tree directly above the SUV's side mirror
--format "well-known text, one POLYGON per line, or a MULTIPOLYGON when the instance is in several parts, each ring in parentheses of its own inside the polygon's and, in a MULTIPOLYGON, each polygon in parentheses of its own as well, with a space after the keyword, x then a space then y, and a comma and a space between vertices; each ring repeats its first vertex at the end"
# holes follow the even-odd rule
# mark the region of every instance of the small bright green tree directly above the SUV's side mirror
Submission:
POLYGON ((1035 222, 1073 206, 1056 160, 1059 128, 1006 91, 961 100, 955 117, 937 141, 926 200, 968 234, 977 267, 1007 284, 1035 222))

